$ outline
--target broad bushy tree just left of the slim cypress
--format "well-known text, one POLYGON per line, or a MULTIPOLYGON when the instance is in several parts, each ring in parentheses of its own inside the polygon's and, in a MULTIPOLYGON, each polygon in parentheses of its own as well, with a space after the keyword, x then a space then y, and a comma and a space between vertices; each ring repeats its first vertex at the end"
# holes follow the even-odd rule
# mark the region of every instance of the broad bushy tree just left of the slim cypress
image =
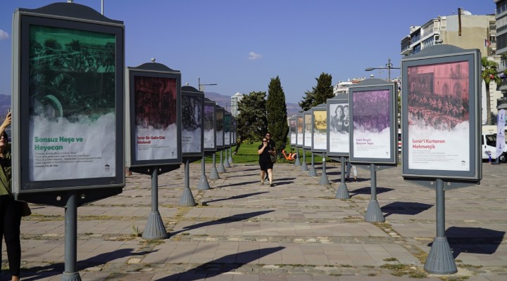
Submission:
POLYGON ((251 92, 239 100, 239 116, 237 119, 238 142, 236 149, 243 141, 260 141, 268 130, 268 119, 266 117, 266 93, 251 92))

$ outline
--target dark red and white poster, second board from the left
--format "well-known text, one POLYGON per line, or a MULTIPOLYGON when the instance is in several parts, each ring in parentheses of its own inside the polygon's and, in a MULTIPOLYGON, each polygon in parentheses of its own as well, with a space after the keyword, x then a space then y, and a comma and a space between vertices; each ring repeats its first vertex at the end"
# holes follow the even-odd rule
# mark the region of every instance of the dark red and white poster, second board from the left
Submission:
POLYGON ((177 79, 135 76, 134 159, 177 159, 177 79))

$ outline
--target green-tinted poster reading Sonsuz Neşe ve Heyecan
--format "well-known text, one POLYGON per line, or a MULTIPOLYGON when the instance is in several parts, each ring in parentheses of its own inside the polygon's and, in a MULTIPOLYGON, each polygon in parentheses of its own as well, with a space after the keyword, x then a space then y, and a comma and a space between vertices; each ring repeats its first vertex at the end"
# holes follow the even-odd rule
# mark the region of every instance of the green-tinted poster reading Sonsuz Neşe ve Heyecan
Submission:
POLYGON ((70 23, 38 25, 35 18, 23 25, 27 33, 20 48, 27 68, 21 67, 26 72, 20 90, 29 120, 23 148, 28 181, 118 176, 118 164, 123 165, 118 154, 118 126, 123 126, 118 123, 118 114, 123 115, 118 108, 123 99, 117 96, 123 93, 119 32, 65 28, 75 26, 70 23))

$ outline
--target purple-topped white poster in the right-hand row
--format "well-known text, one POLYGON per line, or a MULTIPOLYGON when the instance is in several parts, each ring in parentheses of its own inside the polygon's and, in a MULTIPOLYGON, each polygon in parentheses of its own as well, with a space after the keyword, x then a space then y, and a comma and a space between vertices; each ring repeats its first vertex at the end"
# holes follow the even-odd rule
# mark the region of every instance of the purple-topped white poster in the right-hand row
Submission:
POLYGON ((353 93, 353 155, 358 158, 391 158, 389 90, 353 93))

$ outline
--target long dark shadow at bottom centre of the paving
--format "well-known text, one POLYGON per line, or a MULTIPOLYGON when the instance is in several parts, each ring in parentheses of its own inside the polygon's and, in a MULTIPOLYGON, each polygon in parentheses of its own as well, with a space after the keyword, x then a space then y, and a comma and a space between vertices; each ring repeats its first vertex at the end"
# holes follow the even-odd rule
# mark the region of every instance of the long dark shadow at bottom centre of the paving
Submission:
POLYGON ((238 254, 230 254, 227 256, 223 256, 220 259, 215 259, 214 261, 204 263, 201 266, 197 266, 196 268, 192 268, 182 273, 162 277, 158 279, 158 281, 168 281, 168 280, 192 281, 204 279, 207 280, 208 278, 212 278, 221 275, 223 273, 228 273, 230 271, 236 270, 237 268, 242 267, 246 263, 251 263, 252 261, 261 259, 264 256, 268 256, 269 254, 273 254, 277 251, 282 251, 282 249, 284 248, 285 247, 273 247, 273 248, 244 251, 238 254))

